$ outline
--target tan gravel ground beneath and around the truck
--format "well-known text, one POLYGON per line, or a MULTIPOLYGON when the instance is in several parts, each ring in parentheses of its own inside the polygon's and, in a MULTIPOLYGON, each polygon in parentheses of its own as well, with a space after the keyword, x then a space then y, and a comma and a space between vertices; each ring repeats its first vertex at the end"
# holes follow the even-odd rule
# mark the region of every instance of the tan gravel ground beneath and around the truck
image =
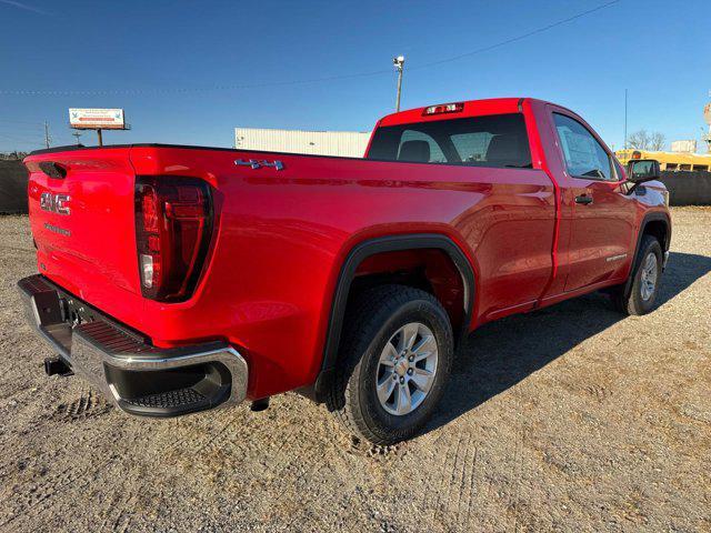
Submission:
POLYGON ((593 294, 482 328, 388 449, 296 394, 156 421, 47 378, 28 221, 1 218, 0 531, 711 531, 711 209, 673 218, 655 312, 593 294))

